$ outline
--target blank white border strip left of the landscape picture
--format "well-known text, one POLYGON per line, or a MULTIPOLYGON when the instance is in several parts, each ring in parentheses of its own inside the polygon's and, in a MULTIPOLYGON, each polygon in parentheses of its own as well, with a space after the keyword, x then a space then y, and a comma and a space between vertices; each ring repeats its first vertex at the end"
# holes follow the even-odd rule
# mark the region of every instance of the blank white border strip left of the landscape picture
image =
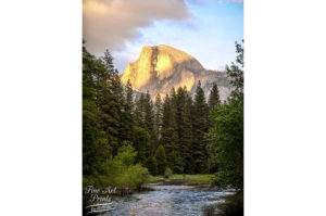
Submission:
POLYGON ((1 215, 82 215, 82 1, 0 4, 1 215))

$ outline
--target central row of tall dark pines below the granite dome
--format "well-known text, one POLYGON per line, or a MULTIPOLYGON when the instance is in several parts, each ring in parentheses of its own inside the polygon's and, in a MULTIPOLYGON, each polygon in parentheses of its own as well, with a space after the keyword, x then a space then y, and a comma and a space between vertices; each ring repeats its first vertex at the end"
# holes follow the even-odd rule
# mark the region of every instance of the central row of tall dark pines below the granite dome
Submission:
POLYGON ((164 100, 158 94, 154 102, 149 93, 141 93, 130 104, 135 105, 131 127, 138 161, 152 175, 163 175, 167 167, 176 174, 209 173, 204 135, 211 125, 210 110, 220 103, 217 86, 214 85, 206 103, 200 81, 193 100, 186 87, 172 88, 164 100))

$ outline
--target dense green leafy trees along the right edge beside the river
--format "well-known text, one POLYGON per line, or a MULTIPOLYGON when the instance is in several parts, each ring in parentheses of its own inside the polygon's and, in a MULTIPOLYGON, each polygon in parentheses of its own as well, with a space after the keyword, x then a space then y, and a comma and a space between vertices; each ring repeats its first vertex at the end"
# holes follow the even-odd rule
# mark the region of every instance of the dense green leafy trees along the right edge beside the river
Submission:
POLYGON ((236 64, 226 68, 234 91, 226 103, 214 106, 206 139, 211 163, 217 168, 213 183, 243 189, 243 46, 236 48, 236 64))

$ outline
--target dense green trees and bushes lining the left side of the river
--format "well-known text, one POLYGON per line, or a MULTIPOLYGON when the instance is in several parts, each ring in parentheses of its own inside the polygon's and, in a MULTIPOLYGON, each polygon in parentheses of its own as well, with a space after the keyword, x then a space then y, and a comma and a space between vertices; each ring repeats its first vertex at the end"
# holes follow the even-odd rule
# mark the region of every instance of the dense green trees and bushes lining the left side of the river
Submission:
POLYGON ((133 103, 131 87, 122 87, 110 52, 97 59, 83 48, 84 187, 135 190, 147 182, 148 170, 135 149, 149 136, 134 130, 133 103))

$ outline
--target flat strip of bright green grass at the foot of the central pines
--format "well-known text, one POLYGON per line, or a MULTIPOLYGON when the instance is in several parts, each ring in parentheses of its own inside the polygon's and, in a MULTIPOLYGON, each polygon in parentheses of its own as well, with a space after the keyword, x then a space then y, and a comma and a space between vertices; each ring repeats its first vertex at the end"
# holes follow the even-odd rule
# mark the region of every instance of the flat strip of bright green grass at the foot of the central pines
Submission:
POLYGON ((195 174, 195 175, 174 174, 170 178, 164 178, 164 176, 151 176, 150 182, 166 181, 166 180, 185 180, 187 181, 187 185, 210 183, 210 180, 213 176, 214 174, 195 174))

